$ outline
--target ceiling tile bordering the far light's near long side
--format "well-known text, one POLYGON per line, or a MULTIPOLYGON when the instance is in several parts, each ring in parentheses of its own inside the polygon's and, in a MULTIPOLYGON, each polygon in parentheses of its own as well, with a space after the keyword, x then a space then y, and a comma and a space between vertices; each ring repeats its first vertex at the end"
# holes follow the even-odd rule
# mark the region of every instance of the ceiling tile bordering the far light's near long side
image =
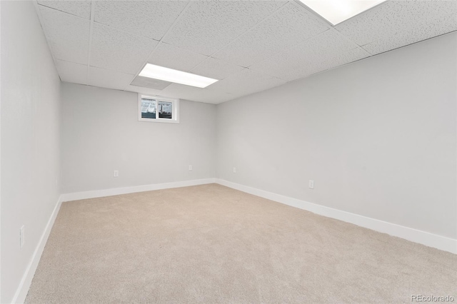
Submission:
POLYGON ((160 43, 148 62, 157 66, 165 66, 179 71, 190 71, 194 66, 204 61, 207 57, 193 51, 187 51, 176 46, 160 43))

